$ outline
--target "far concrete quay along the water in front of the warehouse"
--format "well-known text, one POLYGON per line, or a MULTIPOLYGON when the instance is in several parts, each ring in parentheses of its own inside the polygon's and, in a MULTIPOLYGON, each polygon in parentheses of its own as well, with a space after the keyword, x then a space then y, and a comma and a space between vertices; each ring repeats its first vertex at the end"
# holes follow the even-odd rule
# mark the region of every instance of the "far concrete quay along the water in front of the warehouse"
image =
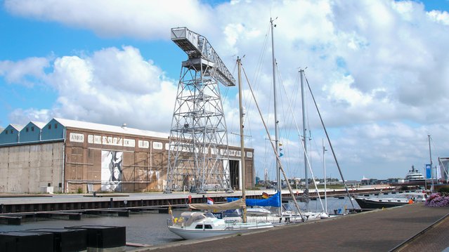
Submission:
MULTIPOLYGON (((366 187, 350 190, 351 194, 379 193, 381 190, 391 190, 390 187, 366 187)), ((319 190, 323 197, 324 190, 319 190)), ((260 199, 262 192, 275 194, 275 190, 249 190, 248 199, 260 199)), ((294 190, 297 196, 301 196, 302 190, 294 190)), ((345 195, 344 189, 328 190, 327 197, 345 195)), ((283 197, 289 197, 288 190, 282 190, 283 197)), ((209 192, 207 194, 194 194, 190 192, 176 192, 164 194, 162 192, 148 193, 90 193, 90 194, 0 194, 0 215, 20 213, 36 213, 48 211, 77 211, 98 208, 145 208, 186 206, 190 200, 192 203, 205 203, 207 197, 215 202, 226 202, 226 197, 241 197, 242 192, 209 192)), ((311 197, 317 197, 316 192, 310 193, 311 197)))

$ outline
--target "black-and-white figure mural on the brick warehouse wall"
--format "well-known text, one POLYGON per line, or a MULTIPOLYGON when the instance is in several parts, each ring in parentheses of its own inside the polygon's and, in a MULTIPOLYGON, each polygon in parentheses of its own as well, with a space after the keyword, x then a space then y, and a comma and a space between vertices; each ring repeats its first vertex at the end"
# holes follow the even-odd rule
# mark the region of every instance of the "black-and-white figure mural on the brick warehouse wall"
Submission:
POLYGON ((101 190, 122 192, 123 152, 101 151, 101 190))

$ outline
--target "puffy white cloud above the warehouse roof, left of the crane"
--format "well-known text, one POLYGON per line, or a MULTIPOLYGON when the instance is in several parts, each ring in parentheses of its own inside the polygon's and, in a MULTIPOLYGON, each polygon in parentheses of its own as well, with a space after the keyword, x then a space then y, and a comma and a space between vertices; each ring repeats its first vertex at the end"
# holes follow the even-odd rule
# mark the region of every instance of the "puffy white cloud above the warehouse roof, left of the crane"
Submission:
MULTIPOLYGON (((19 73, 15 79, 22 79, 28 74, 27 64, 8 65, 14 67, 5 71, 6 76, 19 73)), ((175 98, 176 86, 162 69, 143 59, 138 49, 124 46, 92 55, 63 56, 53 60, 51 67, 48 74, 34 75, 58 93, 53 108, 15 110, 10 114, 12 121, 63 117, 167 132, 174 102, 164 98, 175 98)))

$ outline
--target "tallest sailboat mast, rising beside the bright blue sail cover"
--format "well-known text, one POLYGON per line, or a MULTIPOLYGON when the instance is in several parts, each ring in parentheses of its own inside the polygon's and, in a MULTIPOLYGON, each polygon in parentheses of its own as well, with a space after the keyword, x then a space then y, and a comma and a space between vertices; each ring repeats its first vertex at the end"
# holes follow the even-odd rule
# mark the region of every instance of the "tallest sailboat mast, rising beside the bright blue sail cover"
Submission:
MULTIPOLYGON (((276 153, 279 154, 279 121, 278 121, 278 107, 276 105, 276 59, 274 53, 274 36, 273 36, 273 18, 270 18, 271 23, 271 53, 273 55, 273 92, 274 92, 274 113, 275 113, 275 147, 276 153)), ((278 180, 278 192, 280 194, 279 200, 282 202, 282 178, 280 178, 279 159, 276 160, 276 179, 278 180)), ((282 209, 278 209, 279 215, 282 214, 282 209)))

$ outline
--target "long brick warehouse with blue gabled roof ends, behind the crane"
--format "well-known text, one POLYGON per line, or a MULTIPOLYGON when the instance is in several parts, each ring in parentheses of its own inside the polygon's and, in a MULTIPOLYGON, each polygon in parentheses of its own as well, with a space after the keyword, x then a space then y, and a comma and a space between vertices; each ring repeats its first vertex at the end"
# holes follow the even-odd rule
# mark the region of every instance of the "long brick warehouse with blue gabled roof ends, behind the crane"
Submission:
MULTIPOLYGON (((162 192, 169 134, 54 118, 0 133, 0 193, 162 192)), ((247 187, 254 150, 245 149, 247 187)), ((240 148, 229 147, 231 187, 241 189, 240 148)))

